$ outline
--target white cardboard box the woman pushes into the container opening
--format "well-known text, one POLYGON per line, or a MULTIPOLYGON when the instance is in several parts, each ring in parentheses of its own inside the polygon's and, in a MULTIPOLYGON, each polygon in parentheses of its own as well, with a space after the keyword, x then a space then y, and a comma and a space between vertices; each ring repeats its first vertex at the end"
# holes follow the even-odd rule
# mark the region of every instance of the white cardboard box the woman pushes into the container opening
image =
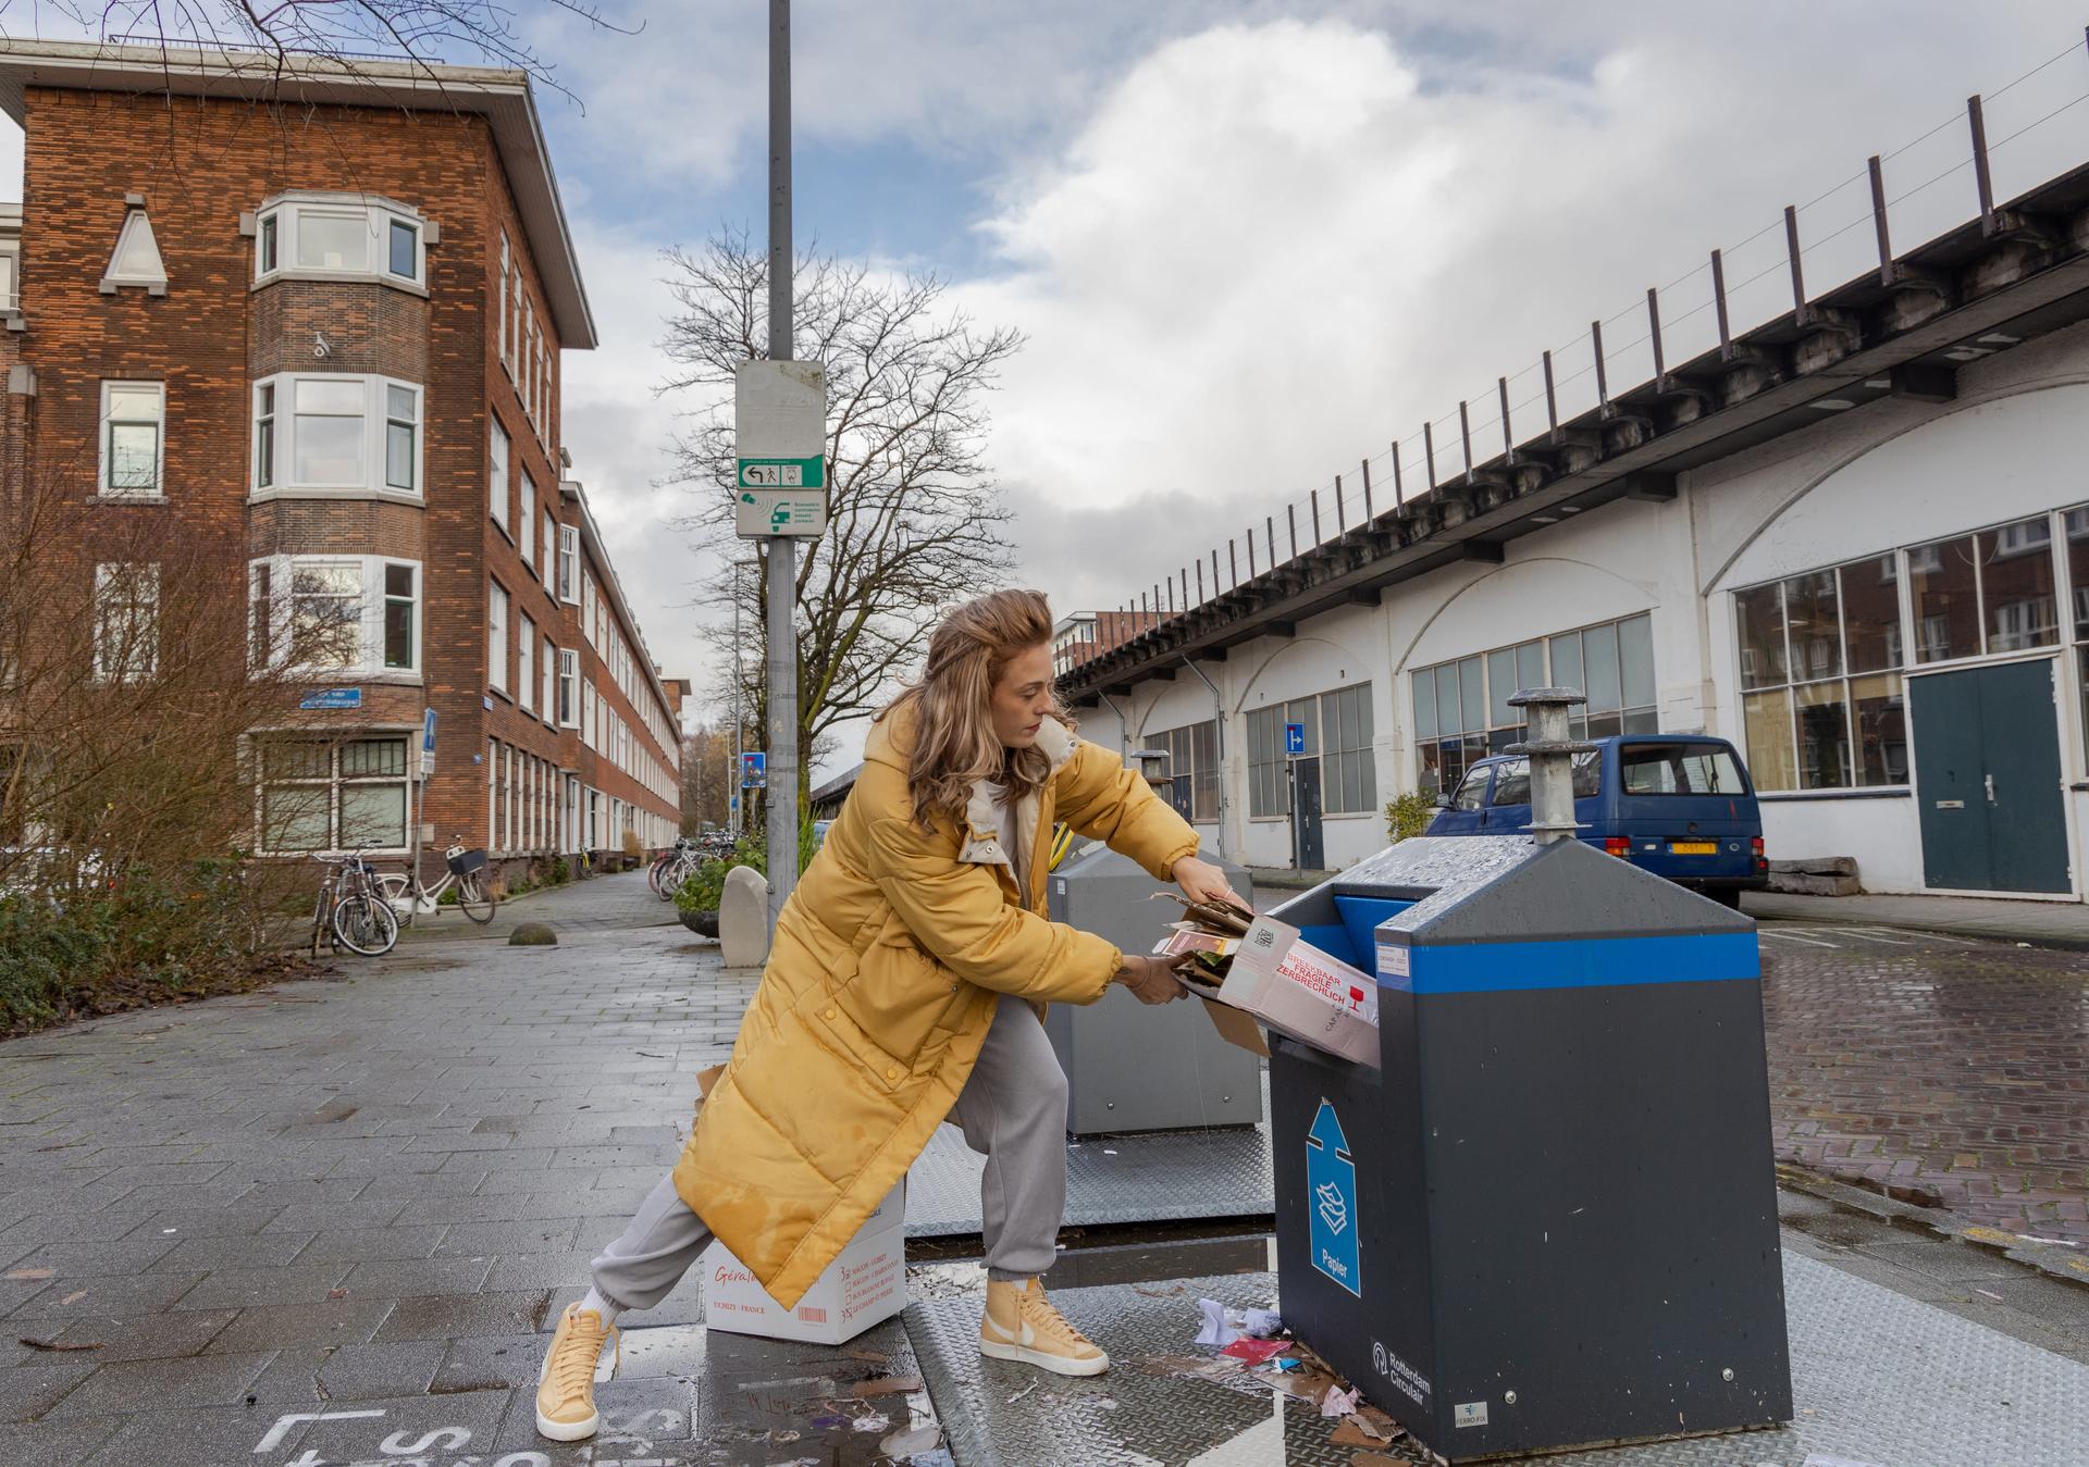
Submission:
POLYGON ((1216 989, 1195 981, 1189 989, 1205 1000, 1218 1033, 1243 1050, 1270 1052, 1255 1033, 1260 1023, 1379 1068, 1379 981, 1304 941, 1299 929, 1272 916, 1258 916, 1247 929, 1216 989))

